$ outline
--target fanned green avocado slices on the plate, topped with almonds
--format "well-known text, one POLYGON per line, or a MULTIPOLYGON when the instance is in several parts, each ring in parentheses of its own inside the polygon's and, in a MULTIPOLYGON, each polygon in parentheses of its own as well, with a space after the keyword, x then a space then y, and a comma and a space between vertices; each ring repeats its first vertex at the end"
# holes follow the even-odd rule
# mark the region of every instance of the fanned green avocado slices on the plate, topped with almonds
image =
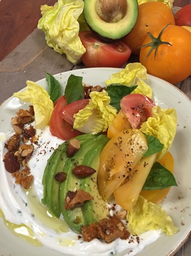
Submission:
POLYGON ((101 199, 97 188, 98 159, 109 138, 103 134, 83 134, 76 138, 80 141, 81 147, 75 155, 67 157, 68 140, 58 146, 48 159, 42 181, 44 185, 42 203, 46 204, 50 212, 57 218, 62 213, 64 221, 70 229, 81 233, 82 225, 89 225, 109 214, 106 203, 101 199), (81 164, 93 167, 97 170, 96 173, 82 179, 75 177, 72 174, 72 169, 81 164), (61 183, 54 179, 55 174, 59 171, 67 173, 66 180, 61 183), (67 192, 78 189, 90 192, 96 200, 93 199, 85 202, 81 207, 66 210, 64 206, 67 192))

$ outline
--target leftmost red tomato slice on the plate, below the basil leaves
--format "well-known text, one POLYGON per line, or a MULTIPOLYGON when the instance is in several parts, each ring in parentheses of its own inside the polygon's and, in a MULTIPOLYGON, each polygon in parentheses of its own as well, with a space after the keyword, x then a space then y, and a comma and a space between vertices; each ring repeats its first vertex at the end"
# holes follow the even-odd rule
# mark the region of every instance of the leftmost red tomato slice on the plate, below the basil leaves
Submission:
POLYGON ((60 110, 63 109, 64 106, 66 106, 66 98, 61 96, 51 115, 50 132, 54 136, 61 138, 61 140, 69 140, 69 138, 76 137, 82 134, 82 132, 73 129, 72 125, 61 118, 60 110))

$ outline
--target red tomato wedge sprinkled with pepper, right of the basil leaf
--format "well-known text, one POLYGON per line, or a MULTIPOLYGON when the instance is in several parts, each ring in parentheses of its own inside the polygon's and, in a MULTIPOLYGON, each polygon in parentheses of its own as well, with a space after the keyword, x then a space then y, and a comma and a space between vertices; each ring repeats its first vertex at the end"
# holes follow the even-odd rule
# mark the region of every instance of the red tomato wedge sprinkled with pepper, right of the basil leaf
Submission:
POLYGON ((155 103, 143 94, 129 94, 122 98, 120 106, 131 127, 135 129, 152 116, 155 103))

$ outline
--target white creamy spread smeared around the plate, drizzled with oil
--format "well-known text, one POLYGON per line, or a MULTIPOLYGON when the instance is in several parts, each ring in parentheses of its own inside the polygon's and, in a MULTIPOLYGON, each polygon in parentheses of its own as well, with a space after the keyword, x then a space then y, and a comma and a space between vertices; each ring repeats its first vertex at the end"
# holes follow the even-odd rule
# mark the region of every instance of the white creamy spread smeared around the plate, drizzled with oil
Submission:
POLYGON ((141 234, 139 237, 131 236, 128 240, 117 239, 109 244, 98 239, 89 243, 83 242, 78 234, 69 230, 62 219, 51 216, 47 207, 41 203, 42 177, 47 159, 63 141, 52 136, 49 127, 44 131, 38 131, 38 135, 39 145, 35 145, 29 162, 30 171, 34 176, 33 186, 27 191, 14 183, 14 178, 5 170, 2 161, 6 152, 4 143, 10 135, 0 142, 0 209, 7 221, 14 224, 26 224, 43 245, 63 255, 135 255, 159 238, 161 231, 156 230, 141 234))

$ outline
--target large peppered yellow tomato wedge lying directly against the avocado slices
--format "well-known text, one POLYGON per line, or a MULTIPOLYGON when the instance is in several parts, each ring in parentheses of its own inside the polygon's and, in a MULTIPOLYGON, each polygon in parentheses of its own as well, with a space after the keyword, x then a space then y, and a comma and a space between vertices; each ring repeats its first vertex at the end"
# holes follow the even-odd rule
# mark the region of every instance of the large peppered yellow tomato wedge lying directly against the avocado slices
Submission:
POLYGON ((98 171, 98 188, 104 200, 133 174, 147 148, 146 137, 138 129, 118 132, 110 139, 101 152, 98 171))

